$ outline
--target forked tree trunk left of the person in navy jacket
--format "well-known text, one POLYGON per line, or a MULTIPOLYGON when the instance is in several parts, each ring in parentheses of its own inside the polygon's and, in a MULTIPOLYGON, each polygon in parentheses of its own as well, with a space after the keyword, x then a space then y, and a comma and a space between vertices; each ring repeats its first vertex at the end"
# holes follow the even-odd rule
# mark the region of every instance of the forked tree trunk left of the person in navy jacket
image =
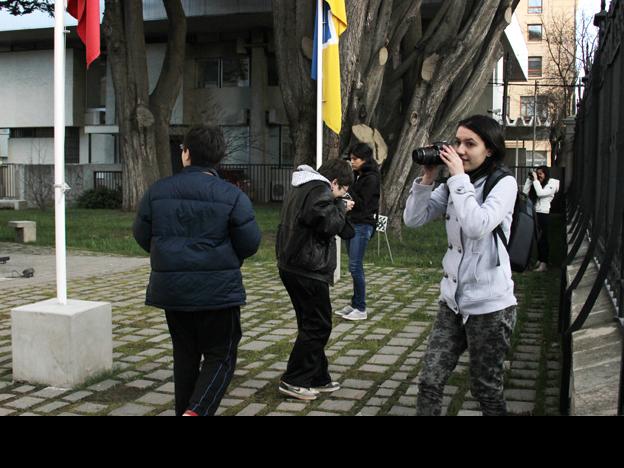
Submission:
POLYGON ((133 211, 145 191, 171 174, 169 125, 182 86, 186 17, 180 0, 164 0, 169 42, 152 96, 141 0, 106 0, 104 34, 111 64, 119 148, 123 166, 123 208, 133 211))

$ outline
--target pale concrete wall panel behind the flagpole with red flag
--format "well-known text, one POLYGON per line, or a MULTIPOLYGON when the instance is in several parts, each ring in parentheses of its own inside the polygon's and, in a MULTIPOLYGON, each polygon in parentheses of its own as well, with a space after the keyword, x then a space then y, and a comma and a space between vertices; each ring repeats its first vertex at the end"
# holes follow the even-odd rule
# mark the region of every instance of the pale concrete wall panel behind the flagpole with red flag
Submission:
MULTIPOLYGON (((68 51, 69 52, 69 51, 68 51)), ((54 126, 52 50, 0 54, 0 128, 54 126)), ((66 124, 74 126, 74 54, 67 54, 66 124)))

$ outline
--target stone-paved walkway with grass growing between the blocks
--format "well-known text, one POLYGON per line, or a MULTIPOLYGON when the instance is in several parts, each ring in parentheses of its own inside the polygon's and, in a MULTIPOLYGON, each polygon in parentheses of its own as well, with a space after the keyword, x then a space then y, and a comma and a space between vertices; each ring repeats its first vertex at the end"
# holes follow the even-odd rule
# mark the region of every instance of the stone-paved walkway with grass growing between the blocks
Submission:
MULTIPOLYGON (((115 369, 74 390, 12 382, 10 310, 54 296, 54 285, 23 286, 1 292, 0 416, 173 414, 171 342, 164 314, 143 305, 148 268, 70 282, 70 297, 113 304, 115 369)), ((244 338, 238 370, 219 410, 221 415, 391 415, 415 413, 417 379, 426 341, 437 313, 437 269, 369 269, 371 319, 336 320, 329 346, 331 371, 343 390, 309 404, 277 393, 296 336, 294 312, 272 266, 245 267, 249 306, 243 311, 244 338)), ((350 298, 343 281, 334 290, 335 307, 350 298)), ((540 291, 518 285, 521 320, 509 364, 510 411, 518 415, 556 414, 558 352, 546 349, 556 314, 544 314, 547 282, 540 291), (545 319, 545 320, 544 320, 545 319)), ((551 307, 552 305, 548 305, 551 307)), ((467 356, 445 390, 445 413, 478 415, 469 392, 467 356)))

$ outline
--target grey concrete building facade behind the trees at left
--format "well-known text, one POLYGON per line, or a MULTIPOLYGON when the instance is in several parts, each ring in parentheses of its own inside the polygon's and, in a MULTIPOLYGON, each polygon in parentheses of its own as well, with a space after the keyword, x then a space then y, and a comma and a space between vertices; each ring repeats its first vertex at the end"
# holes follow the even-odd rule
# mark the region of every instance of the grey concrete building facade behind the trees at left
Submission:
MULTIPOLYGON (((150 86, 166 51, 166 13, 144 0, 150 86)), ((199 124, 220 125, 226 164, 290 167, 287 118, 273 47, 271 0, 183 0, 188 43, 183 89, 171 128, 172 163, 179 143, 199 124)), ((115 94, 104 44, 86 71, 84 49, 67 18, 66 161, 121 170, 115 94)), ((53 20, 43 14, 0 13, 0 162, 53 163, 53 20)), ((97 181, 96 181, 97 182, 97 181)))

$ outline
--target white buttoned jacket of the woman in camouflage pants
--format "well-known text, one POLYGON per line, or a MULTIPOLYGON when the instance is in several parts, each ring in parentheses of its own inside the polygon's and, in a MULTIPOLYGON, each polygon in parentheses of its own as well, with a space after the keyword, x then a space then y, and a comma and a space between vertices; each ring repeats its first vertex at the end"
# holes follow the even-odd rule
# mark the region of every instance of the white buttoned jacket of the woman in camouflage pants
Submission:
POLYGON ((518 184, 514 178, 505 177, 484 203, 485 181, 483 178, 473 185, 463 174, 451 177, 434 191, 433 186, 416 180, 403 215, 411 228, 446 216, 449 248, 443 261, 440 300, 464 321, 471 315, 491 314, 518 304, 509 254, 493 235, 502 225, 509 239, 518 184))

